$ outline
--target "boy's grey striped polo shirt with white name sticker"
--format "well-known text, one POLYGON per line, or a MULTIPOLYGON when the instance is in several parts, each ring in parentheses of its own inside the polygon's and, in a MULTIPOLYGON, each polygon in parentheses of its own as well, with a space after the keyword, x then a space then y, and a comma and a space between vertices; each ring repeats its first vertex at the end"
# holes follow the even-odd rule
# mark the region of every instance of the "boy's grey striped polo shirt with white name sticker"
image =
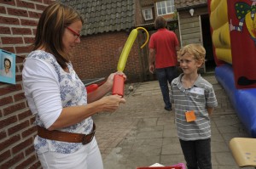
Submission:
POLYGON ((172 81, 170 92, 172 104, 175 105, 178 138, 185 141, 211 138, 207 107, 218 105, 212 84, 199 75, 194 87, 185 89, 181 82, 182 76, 172 81), (189 110, 195 111, 195 121, 186 121, 185 112, 189 110))

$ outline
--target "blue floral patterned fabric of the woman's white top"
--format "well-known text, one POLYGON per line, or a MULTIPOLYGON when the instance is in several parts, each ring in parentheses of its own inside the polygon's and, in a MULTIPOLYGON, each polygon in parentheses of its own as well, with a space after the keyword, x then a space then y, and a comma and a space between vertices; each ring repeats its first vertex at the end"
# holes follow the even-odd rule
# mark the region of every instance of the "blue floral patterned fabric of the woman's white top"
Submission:
MULTIPOLYGON (((61 68, 57 60, 52 54, 47 52, 36 50, 32 51, 26 59, 40 59, 52 66, 58 75, 58 81, 61 93, 62 107, 69 107, 75 105, 87 104, 87 93, 85 91, 84 83, 81 82, 79 76, 73 70, 71 63, 67 64, 69 73, 61 68)), ((35 124, 44 127, 43 121, 40 120, 40 116, 36 115, 35 124)), ((93 121, 91 117, 84 119, 83 121, 72 125, 70 127, 62 128, 63 132, 76 132, 88 134, 92 130, 93 121), (81 132, 82 131, 82 132, 81 132)), ((67 143, 55 140, 49 140, 45 138, 36 137, 34 140, 34 147, 38 154, 42 154, 46 151, 55 151, 62 154, 70 154, 78 150, 83 144, 81 143, 67 143)))

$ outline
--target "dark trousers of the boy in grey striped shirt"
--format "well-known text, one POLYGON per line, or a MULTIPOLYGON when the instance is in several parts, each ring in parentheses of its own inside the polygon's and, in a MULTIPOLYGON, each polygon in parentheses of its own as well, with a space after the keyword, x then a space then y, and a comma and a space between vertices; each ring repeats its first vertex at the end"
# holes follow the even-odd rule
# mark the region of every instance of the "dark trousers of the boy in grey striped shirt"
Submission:
POLYGON ((179 140, 188 169, 212 169, 211 138, 195 141, 179 140))

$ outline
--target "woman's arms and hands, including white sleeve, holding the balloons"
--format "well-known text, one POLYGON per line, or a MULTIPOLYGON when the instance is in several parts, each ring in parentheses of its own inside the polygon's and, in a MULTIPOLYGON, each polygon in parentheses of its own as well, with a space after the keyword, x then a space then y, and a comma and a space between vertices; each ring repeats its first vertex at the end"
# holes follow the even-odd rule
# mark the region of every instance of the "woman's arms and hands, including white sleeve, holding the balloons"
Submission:
POLYGON ((71 126, 100 111, 114 111, 120 103, 125 103, 125 99, 116 95, 102 98, 112 87, 112 76, 97 91, 95 98, 102 99, 90 104, 66 108, 61 104, 60 87, 55 70, 44 61, 26 60, 22 78, 32 113, 38 115, 44 127, 49 130, 71 126))

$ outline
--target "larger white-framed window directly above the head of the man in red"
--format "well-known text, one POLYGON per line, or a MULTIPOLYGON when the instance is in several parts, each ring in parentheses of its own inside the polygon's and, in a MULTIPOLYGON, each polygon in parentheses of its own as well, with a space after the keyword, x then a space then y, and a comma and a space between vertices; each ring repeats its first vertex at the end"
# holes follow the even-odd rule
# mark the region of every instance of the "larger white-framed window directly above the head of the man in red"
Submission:
POLYGON ((156 3, 157 15, 173 14, 175 12, 174 0, 161 1, 156 3))

